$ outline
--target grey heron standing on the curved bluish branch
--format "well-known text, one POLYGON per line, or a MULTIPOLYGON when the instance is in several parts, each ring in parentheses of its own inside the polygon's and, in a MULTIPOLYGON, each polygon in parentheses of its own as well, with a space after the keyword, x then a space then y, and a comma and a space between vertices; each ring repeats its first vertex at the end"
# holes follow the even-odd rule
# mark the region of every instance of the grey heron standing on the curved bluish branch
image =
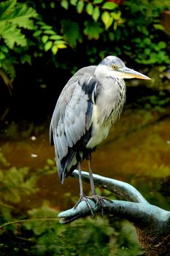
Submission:
POLYGON ((107 138, 109 129, 120 117, 125 103, 123 78, 150 79, 125 67, 116 56, 107 56, 98 66, 78 70, 64 86, 55 106, 50 123, 50 143, 55 146, 61 184, 75 168, 79 170, 78 203, 85 200, 89 206, 82 188, 81 162, 84 159, 88 160, 90 198, 101 203, 102 198, 96 195, 93 184, 91 152, 107 138))

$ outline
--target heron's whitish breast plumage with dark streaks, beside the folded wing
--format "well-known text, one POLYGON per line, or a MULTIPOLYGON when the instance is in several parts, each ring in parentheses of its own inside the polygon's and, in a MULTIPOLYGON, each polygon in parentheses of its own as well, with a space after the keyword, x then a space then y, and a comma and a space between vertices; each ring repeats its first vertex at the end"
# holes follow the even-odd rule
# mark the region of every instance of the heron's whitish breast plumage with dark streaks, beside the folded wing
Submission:
POLYGON ((86 145, 87 148, 94 148, 107 138, 109 129, 120 117, 125 102, 125 83, 123 80, 117 81, 103 78, 101 84, 103 87, 98 96, 98 102, 93 105, 91 118, 93 129, 92 136, 86 145), (119 102, 120 92, 122 99, 119 102))

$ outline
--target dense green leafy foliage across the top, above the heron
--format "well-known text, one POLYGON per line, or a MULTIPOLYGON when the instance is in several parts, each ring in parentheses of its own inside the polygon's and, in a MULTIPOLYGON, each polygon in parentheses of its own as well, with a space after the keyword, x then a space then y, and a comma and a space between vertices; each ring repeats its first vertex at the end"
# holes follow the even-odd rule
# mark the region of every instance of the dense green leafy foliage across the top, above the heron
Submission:
POLYGON ((108 54, 169 64, 160 18, 169 6, 170 0, 1 1, 0 67, 14 79, 18 65, 35 59, 72 70, 80 57, 88 64, 108 54))

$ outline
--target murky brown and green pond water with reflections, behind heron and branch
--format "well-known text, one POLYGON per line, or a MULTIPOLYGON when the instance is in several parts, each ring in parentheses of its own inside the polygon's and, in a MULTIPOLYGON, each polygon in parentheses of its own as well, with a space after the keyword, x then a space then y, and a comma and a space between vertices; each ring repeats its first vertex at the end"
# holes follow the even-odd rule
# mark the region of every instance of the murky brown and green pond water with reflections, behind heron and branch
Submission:
MULTIPOLYGON (((124 111, 116 129, 93 154, 93 172, 127 181, 150 203, 170 210, 169 126, 166 113, 124 111)), ((58 211, 74 205, 78 182, 70 177, 63 186, 59 183, 47 132, 0 146, 1 223, 57 218, 58 211)), ((113 198, 103 189, 98 193, 113 198)), ((61 225, 58 219, 12 224, 1 228, 0 238, 1 255, 144 255, 134 227, 114 217, 70 225, 61 225)))

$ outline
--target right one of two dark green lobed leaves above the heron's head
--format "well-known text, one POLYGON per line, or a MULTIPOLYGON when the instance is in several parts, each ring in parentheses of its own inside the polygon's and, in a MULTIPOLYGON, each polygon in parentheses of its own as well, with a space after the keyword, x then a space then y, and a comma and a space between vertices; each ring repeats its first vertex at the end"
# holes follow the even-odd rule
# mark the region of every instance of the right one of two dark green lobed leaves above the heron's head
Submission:
POLYGON ((89 20, 85 21, 84 33, 88 36, 88 39, 99 39, 102 31, 99 23, 89 20))

